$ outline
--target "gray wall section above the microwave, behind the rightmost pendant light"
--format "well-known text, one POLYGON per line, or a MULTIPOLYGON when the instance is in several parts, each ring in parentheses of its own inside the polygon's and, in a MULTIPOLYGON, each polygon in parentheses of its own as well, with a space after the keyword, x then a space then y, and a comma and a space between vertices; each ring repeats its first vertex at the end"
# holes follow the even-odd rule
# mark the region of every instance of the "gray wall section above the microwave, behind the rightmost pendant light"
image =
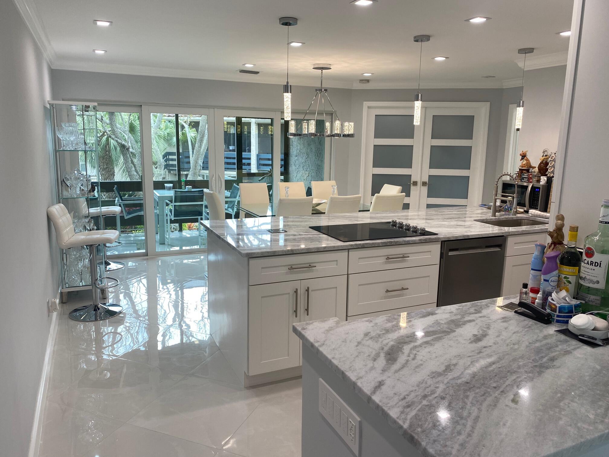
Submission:
POLYGON ((560 113, 565 91, 566 65, 527 70, 524 75, 523 127, 518 136, 518 149, 529 151, 534 166, 541 151, 558 149, 560 113))

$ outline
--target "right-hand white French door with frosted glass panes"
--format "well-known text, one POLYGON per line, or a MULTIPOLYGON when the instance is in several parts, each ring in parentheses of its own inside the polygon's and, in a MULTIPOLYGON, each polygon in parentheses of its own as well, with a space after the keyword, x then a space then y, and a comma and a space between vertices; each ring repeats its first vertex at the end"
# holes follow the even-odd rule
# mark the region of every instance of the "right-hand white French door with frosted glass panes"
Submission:
POLYGON ((484 120, 480 108, 425 108, 420 208, 481 202, 484 120))

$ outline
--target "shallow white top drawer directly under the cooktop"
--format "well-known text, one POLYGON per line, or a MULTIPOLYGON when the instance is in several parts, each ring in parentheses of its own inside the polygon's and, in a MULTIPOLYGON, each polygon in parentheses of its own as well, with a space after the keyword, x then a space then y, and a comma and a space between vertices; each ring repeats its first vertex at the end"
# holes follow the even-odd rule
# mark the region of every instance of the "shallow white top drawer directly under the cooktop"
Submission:
POLYGON ((349 251, 350 274, 437 263, 440 263, 440 243, 368 247, 349 251))

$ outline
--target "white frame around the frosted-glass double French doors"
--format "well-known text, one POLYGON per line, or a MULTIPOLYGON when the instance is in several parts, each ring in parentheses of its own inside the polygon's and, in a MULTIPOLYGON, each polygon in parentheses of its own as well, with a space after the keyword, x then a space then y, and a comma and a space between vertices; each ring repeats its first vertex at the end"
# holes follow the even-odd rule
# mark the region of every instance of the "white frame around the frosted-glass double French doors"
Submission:
MULTIPOLYGON (((403 110, 414 109, 413 102, 364 102, 362 112, 362 146, 361 146, 361 165, 360 165, 360 182, 359 191, 365 195, 367 187, 368 168, 371 170, 371 151, 374 138, 374 126, 370 126, 368 122, 368 112, 374 108, 385 108, 387 110, 403 110)), ((424 128, 426 119, 425 108, 473 108, 476 115, 479 115, 479 122, 474 122, 474 132, 471 150, 471 169, 470 169, 470 193, 468 200, 472 200, 473 204, 482 203, 482 188, 484 186, 484 166, 486 163, 487 139, 488 139, 488 113, 490 110, 490 102, 423 102, 421 105, 421 126, 424 128), (479 138, 479 140, 476 140, 479 138)), ((417 138, 417 128, 415 127, 415 138, 417 138)), ((430 127, 431 138, 431 127, 430 127)), ((421 144, 422 150, 422 144, 421 144)), ((413 154, 413 161, 414 155, 413 154)), ((413 175, 415 173, 413 172, 413 175)), ((421 186, 418 186, 421 189, 421 186)), ((412 190, 411 190, 412 192, 412 190)), ((419 191, 420 192, 420 191, 419 191)), ((426 190, 425 190, 426 193, 426 190)), ((414 199, 411 199, 411 205, 414 199)), ((415 209, 413 206, 411 208, 415 209)))

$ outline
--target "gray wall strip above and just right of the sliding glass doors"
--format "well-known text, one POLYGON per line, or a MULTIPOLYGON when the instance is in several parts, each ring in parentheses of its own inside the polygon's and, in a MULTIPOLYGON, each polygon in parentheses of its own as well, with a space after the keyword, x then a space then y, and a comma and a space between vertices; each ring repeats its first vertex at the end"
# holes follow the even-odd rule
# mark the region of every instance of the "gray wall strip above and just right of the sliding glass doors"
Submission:
MULTIPOLYGON (((253 76, 255 78, 255 76, 253 76)), ((211 79, 136 76, 52 70, 53 93, 58 100, 132 102, 208 107, 241 107, 283 111, 283 88, 278 84, 245 83, 211 79)), ((351 90, 330 89, 329 94, 341 119, 351 116, 351 90)), ((292 111, 305 112, 315 94, 313 87, 292 86, 292 111)), ((349 143, 336 140, 334 175, 347 182, 349 143)))

